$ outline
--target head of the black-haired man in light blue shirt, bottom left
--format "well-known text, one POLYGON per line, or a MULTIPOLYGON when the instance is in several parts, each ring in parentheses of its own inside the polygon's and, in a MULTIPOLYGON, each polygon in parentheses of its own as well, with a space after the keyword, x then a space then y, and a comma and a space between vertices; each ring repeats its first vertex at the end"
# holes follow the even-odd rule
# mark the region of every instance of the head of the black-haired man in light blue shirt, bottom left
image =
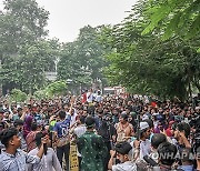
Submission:
POLYGON ((4 144, 6 149, 13 148, 18 149, 21 145, 21 140, 18 137, 18 130, 16 128, 9 128, 0 133, 1 143, 4 144))

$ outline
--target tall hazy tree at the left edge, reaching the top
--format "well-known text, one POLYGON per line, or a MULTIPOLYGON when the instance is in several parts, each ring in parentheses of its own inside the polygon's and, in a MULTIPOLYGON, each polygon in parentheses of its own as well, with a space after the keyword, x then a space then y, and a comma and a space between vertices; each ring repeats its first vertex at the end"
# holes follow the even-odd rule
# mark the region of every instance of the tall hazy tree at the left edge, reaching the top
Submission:
POLYGON ((54 71, 58 40, 44 40, 49 12, 34 0, 6 0, 0 14, 1 82, 32 93, 46 83, 44 71, 54 71))

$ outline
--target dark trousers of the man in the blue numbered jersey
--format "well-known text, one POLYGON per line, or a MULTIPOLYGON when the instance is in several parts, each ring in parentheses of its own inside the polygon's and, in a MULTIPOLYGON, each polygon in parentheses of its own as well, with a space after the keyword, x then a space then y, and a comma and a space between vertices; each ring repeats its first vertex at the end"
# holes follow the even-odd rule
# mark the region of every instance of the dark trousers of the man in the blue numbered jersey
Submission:
POLYGON ((58 157, 58 160, 59 160, 61 167, 63 165, 62 159, 63 159, 63 154, 64 154, 67 171, 69 171, 69 153, 70 153, 70 143, 68 143, 63 147, 57 147, 57 157, 58 157))

